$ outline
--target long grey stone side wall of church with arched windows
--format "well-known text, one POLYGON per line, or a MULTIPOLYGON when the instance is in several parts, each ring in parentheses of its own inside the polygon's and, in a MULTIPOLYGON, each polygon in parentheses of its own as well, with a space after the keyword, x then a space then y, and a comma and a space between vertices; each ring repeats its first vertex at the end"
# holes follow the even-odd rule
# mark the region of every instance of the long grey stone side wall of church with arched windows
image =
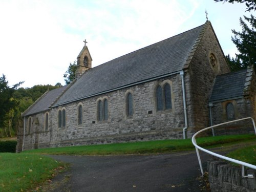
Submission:
MULTIPOLYGON (((188 80, 186 80, 188 81, 188 80)), ((184 108, 181 77, 179 74, 138 84, 118 91, 98 95, 53 108, 49 112, 49 129, 44 128, 45 113, 37 114, 39 125, 25 134, 25 150, 30 148, 125 142, 138 140, 179 139, 183 137, 184 108), (172 109, 156 110, 155 90, 158 84, 170 83, 172 109), (126 116, 125 95, 133 94, 134 115, 126 116), (97 120, 98 99, 108 99, 109 118, 97 120), (78 105, 82 104, 82 124, 78 125, 78 105), (66 110, 66 127, 58 128, 57 113, 66 110)), ((28 126, 28 118, 26 118, 28 126)), ((26 130, 28 127, 26 126, 26 130)), ((22 132, 22 130, 20 130, 22 132)), ((20 133, 22 137, 23 133, 20 133)), ((190 133, 188 133, 191 136, 190 133)))

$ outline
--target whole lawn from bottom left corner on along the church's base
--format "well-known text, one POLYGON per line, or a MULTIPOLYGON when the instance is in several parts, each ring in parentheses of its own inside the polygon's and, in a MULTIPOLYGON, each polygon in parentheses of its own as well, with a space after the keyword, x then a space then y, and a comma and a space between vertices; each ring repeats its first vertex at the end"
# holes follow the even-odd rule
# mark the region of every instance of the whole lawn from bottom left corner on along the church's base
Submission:
MULTIPOLYGON (((252 134, 229 135, 198 138, 197 143, 204 147, 216 147, 239 142, 251 142, 255 139, 256 136, 252 134)), ((54 177, 59 170, 65 170, 64 167, 67 167, 64 163, 38 154, 125 155, 172 153, 188 150, 195 150, 191 139, 46 148, 19 154, 0 153, 0 191, 40 191, 39 186, 42 182, 46 182, 54 177)), ((253 150, 255 158, 255 148, 253 150)))

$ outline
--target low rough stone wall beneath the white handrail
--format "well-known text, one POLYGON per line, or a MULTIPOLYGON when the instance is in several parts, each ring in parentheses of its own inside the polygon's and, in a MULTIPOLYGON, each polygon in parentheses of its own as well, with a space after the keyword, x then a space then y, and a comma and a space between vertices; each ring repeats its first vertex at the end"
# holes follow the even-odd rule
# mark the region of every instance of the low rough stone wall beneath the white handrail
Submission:
POLYGON ((242 167, 235 167, 227 162, 209 160, 207 162, 211 192, 255 192, 256 170, 248 169, 246 174, 254 178, 243 178, 242 167))

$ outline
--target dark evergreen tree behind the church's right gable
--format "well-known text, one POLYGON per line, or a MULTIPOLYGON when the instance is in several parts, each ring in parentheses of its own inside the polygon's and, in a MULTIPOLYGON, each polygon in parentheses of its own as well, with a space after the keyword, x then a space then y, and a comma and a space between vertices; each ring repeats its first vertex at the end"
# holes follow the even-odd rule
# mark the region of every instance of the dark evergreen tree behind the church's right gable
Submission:
POLYGON ((227 59, 231 69, 234 70, 245 69, 249 65, 256 65, 256 31, 254 30, 256 28, 256 18, 251 15, 251 17, 244 16, 244 19, 251 25, 251 28, 240 17, 242 32, 232 30, 234 36, 231 39, 239 53, 236 54, 236 58, 231 59, 228 55, 227 59))

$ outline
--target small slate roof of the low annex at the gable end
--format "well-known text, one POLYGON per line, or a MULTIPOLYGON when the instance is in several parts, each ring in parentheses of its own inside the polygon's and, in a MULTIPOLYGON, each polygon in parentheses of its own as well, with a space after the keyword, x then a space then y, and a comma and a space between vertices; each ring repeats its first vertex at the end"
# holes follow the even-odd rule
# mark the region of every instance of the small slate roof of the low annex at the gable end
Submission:
POLYGON ((209 101, 218 101, 241 97, 244 94, 246 69, 218 75, 209 101))

